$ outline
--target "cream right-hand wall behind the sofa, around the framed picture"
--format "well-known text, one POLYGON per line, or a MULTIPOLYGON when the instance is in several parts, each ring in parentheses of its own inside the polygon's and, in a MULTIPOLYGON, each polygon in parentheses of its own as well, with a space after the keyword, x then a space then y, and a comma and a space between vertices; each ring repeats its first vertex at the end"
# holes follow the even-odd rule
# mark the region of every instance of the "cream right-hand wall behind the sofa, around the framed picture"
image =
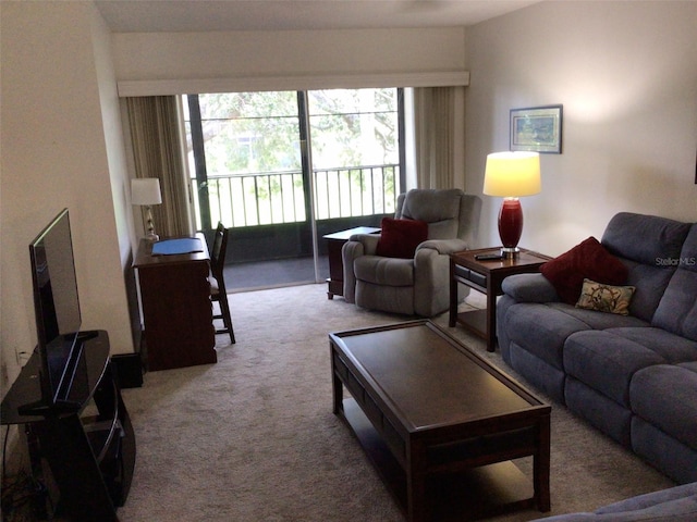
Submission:
MULTIPOLYGON (((559 254, 619 211, 697 221, 697 2, 543 2, 468 28, 466 49, 470 189, 509 149, 510 109, 564 105, 522 246, 559 254)), ((500 198, 482 198, 479 240, 500 244, 500 198)))

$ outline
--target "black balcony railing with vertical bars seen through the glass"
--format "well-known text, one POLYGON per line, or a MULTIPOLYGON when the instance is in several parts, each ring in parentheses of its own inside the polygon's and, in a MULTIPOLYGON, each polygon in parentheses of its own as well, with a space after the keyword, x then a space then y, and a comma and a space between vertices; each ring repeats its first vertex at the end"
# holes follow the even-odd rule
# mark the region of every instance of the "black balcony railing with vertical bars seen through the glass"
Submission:
MULTIPOLYGON (((316 219, 393 213, 399 169, 388 164, 314 171, 316 219)), ((191 183, 200 229, 199 192, 196 179, 191 183)), ((211 222, 230 227, 307 221, 307 194, 301 171, 208 177, 211 222)))

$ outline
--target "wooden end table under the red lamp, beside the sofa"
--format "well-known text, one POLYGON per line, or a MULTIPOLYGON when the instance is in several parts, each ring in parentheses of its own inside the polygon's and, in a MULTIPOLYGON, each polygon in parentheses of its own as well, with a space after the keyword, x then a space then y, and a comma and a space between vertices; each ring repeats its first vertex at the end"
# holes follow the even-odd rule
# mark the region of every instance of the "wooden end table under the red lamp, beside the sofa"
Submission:
POLYGON ((501 283, 509 275, 538 272, 552 259, 543 253, 522 248, 514 258, 478 260, 479 254, 498 253, 501 248, 465 250, 450 254, 450 326, 461 323, 487 341, 487 351, 497 346, 497 297, 502 295, 501 283), (457 313, 457 284, 487 296, 487 309, 457 313))

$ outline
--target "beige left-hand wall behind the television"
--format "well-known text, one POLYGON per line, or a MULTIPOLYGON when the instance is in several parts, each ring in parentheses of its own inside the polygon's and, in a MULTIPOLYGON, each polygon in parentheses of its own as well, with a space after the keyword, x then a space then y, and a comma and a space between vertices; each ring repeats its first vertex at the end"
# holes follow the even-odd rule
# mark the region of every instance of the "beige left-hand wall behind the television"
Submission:
POLYGON ((15 351, 36 345, 28 244, 65 207, 83 328, 107 330, 114 353, 133 351, 122 264, 132 224, 119 166, 125 162, 115 137, 121 123, 113 72, 109 79, 110 38, 96 8, 3 1, 0 9, 4 395, 20 371, 15 351), (111 88, 100 92, 105 84, 111 88))

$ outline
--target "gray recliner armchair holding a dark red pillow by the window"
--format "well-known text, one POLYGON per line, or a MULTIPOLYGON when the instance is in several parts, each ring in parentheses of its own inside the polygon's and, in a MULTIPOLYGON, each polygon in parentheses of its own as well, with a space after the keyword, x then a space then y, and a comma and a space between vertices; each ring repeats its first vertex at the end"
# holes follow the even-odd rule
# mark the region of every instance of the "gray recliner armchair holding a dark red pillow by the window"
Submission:
POLYGON ((481 199, 460 189, 414 189, 394 217, 428 224, 412 259, 377 256, 380 235, 356 234, 342 249, 344 299, 360 308, 431 318, 450 304, 450 253, 473 247, 481 199))

